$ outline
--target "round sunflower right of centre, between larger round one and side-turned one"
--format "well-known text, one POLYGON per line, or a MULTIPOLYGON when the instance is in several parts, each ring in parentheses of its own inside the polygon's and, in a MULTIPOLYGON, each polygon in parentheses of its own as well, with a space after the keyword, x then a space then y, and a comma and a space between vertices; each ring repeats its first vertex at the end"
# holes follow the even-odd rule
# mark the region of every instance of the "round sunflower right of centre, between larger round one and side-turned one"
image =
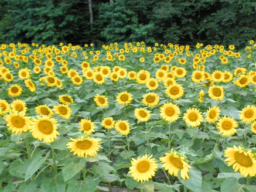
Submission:
POLYGON ((203 122, 202 112, 199 112, 199 109, 189 108, 183 116, 183 120, 187 125, 192 127, 199 126, 203 122))

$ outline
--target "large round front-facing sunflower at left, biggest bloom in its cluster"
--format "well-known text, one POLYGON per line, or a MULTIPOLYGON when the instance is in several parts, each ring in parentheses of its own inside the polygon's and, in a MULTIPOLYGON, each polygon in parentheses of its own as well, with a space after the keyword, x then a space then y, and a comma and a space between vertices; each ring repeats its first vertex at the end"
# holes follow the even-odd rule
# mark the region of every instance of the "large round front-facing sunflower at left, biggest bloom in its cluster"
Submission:
POLYGON ((57 135, 60 135, 57 132, 57 120, 54 118, 49 118, 49 116, 43 115, 42 117, 36 116, 37 119, 33 118, 30 132, 35 139, 44 141, 46 143, 52 143, 57 139, 57 135))

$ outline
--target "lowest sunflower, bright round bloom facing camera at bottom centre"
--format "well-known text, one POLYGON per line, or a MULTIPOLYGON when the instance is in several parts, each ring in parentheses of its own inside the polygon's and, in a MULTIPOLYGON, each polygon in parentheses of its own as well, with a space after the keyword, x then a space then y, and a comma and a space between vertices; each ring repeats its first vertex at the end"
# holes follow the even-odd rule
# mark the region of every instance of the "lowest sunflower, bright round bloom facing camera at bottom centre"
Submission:
POLYGON ((134 180, 141 181, 141 183, 151 179, 152 176, 155 176, 156 169, 158 169, 158 164, 156 164, 156 160, 152 156, 144 155, 141 158, 132 158, 132 166, 129 167, 128 174, 131 174, 134 180))

